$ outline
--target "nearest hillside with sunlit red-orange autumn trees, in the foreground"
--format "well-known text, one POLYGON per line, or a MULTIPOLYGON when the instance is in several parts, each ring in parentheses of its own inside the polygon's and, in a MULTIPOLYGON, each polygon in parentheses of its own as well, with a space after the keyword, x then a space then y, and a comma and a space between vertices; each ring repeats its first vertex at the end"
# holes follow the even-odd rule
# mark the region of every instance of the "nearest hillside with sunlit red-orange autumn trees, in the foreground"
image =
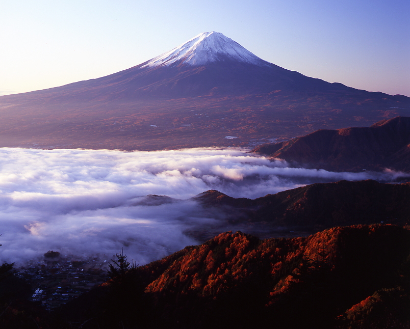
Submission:
POLYGON ((55 327, 408 328, 409 253, 410 231, 393 225, 227 232, 82 295, 55 327))

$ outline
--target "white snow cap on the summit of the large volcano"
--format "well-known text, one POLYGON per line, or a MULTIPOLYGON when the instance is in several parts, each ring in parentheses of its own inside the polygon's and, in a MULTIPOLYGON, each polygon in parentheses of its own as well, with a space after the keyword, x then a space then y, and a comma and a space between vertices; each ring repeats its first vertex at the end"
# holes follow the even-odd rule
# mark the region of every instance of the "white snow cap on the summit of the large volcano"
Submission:
POLYGON ((255 64, 269 65, 239 43, 218 32, 204 32, 184 44, 149 60, 142 67, 169 66, 178 62, 191 66, 204 65, 226 59, 255 64))

